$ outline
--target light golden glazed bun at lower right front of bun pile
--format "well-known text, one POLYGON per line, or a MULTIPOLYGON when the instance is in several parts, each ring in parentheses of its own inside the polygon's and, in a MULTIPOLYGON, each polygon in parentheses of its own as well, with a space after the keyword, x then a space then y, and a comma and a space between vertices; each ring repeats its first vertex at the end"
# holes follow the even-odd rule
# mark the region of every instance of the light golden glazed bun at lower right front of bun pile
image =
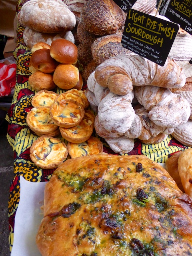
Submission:
POLYGON ((53 74, 53 81, 61 89, 71 89, 79 81, 79 70, 71 64, 59 64, 53 74))

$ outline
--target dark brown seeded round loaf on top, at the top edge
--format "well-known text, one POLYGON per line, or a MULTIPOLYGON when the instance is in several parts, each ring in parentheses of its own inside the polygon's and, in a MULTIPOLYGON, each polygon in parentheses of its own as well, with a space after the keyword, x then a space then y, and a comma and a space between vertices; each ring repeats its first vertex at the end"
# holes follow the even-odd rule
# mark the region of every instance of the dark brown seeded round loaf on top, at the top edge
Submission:
POLYGON ((91 34, 116 34, 124 26, 125 14, 112 0, 89 0, 82 8, 81 22, 91 34))

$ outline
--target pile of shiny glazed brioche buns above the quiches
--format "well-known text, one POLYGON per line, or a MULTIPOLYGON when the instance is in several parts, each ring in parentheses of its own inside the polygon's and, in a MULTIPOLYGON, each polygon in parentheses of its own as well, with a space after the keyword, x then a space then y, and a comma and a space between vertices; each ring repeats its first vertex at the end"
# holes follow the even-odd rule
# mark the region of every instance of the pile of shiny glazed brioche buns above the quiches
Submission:
POLYGON ((75 66, 77 64, 77 47, 74 43, 59 38, 49 46, 39 42, 32 47, 29 62, 29 85, 36 91, 52 90, 56 86, 69 90, 82 89, 82 76, 75 66))

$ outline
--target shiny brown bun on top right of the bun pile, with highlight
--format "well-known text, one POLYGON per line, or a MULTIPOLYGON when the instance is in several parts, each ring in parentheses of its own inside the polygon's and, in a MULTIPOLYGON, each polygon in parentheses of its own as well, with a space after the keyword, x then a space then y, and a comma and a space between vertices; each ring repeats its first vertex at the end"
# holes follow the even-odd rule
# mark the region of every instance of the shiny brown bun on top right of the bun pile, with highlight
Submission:
POLYGON ((59 38, 52 42, 50 55, 62 64, 75 65, 77 63, 77 46, 66 39, 59 38))

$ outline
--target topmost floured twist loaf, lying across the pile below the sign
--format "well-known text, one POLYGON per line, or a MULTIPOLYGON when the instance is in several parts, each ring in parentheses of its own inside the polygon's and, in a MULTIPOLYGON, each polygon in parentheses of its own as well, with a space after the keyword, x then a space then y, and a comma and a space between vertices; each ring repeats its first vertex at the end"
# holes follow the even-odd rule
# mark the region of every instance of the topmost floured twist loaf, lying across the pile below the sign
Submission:
POLYGON ((95 78, 111 92, 125 95, 133 86, 153 85, 164 88, 182 88, 186 77, 174 59, 164 66, 139 55, 118 55, 105 60, 95 70, 95 78))

